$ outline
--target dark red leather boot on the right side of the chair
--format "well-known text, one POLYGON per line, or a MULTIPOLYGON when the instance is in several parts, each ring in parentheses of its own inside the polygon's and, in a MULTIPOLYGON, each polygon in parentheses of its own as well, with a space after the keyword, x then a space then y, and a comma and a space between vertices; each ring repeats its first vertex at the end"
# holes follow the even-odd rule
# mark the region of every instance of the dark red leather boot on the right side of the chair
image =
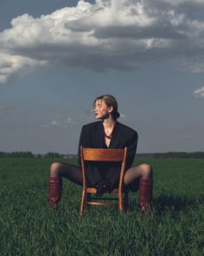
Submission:
POLYGON ((139 199, 142 213, 149 213, 151 211, 152 183, 152 179, 139 180, 139 199))

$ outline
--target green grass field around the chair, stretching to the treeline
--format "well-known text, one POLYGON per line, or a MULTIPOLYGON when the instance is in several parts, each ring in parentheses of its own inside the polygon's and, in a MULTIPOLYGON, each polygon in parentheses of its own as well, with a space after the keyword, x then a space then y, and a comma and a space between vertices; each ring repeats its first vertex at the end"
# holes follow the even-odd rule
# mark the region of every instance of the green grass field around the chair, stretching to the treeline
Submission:
POLYGON ((0 255, 204 255, 204 160, 138 160, 154 168, 153 212, 91 207, 80 217, 81 187, 63 180, 48 208, 53 160, 0 159, 0 255))

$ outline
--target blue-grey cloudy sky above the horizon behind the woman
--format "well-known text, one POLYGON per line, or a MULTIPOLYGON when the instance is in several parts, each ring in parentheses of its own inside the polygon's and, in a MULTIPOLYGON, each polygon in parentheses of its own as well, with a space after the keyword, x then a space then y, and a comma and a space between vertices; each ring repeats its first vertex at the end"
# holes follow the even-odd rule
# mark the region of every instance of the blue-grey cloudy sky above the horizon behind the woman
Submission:
POLYGON ((0 3, 0 151, 76 154, 114 95, 137 153, 204 151, 204 0, 0 3))

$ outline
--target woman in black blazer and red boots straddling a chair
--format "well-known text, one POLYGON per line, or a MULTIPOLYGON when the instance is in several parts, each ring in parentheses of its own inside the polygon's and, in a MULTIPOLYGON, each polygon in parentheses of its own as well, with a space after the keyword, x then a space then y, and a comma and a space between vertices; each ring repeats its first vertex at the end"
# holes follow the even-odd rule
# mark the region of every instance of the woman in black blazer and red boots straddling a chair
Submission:
MULTIPOLYGON (((112 95, 102 95, 95 99, 94 114, 100 121, 83 126, 80 146, 84 148, 128 148, 124 174, 124 189, 136 192, 139 189, 140 209, 150 211, 152 198, 152 168, 149 164, 131 167, 137 150, 137 132, 117 121, 118 103, 112 95)), ((80 163, 80 150, 78 153, 80 163)), ((81 167, 68 163, 54 162, 50 167, 49 206, 54 208, 61 200, 61 177, 80 186, 83 184, 81 167)), ((87 166, 88 182, 99 192, 111 192, 117 187, 119 173, 115 163, 93 162, 87 166)))

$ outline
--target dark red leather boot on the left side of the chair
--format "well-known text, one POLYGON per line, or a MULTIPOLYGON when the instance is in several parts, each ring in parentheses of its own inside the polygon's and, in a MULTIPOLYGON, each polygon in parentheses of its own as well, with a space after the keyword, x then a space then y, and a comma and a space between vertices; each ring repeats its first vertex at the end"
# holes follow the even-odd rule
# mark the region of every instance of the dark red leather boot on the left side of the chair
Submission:
POLYGON ((51 208, 56 208, 61 200, 62 181, 61 177, 49 177, 48 184, 48 204, 51 208))

